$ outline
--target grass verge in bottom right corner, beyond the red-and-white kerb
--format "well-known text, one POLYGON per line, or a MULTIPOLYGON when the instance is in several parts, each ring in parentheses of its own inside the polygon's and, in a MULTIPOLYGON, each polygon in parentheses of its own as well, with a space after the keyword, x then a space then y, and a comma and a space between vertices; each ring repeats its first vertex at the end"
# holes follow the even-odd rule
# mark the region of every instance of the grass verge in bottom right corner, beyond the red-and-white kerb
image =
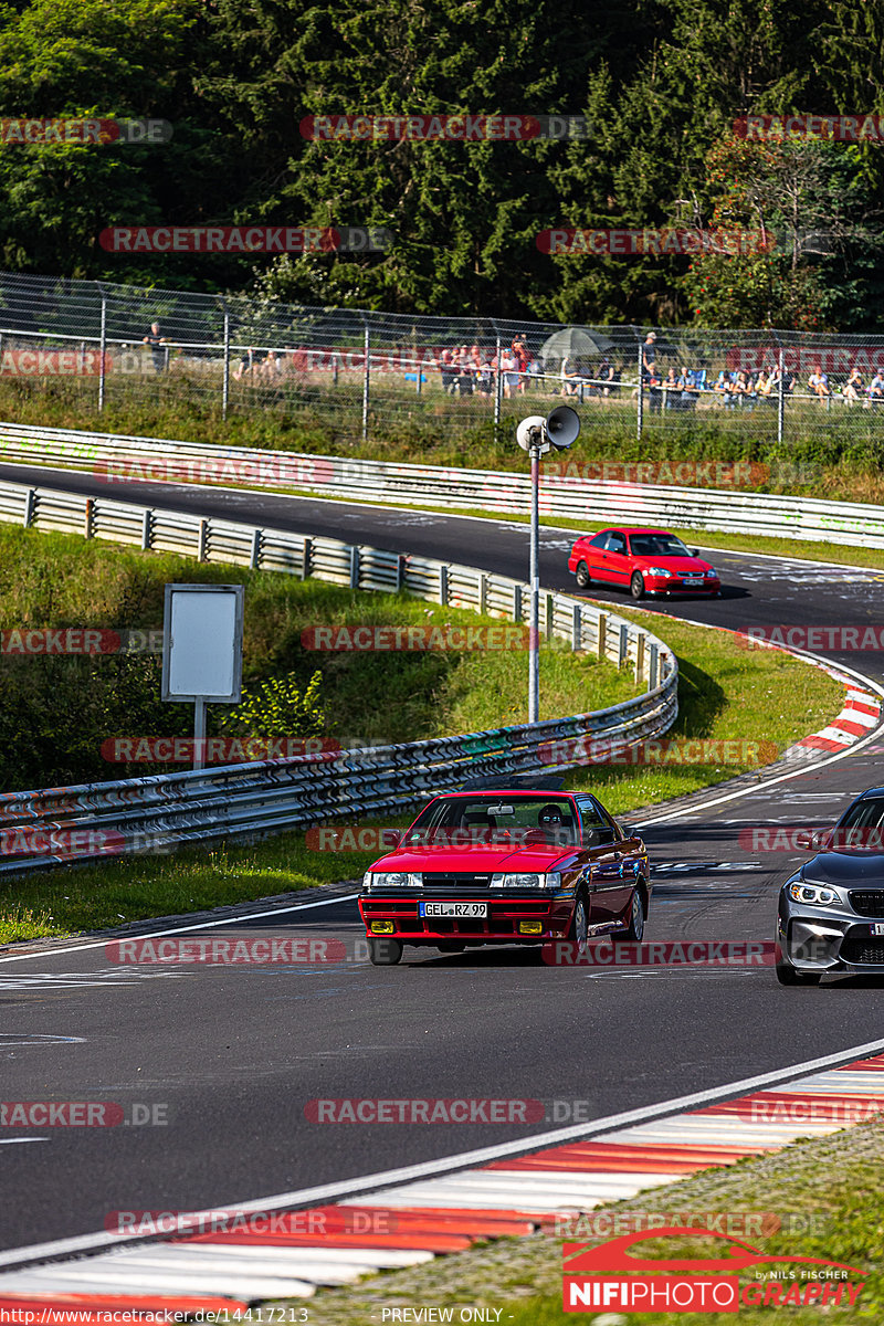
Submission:
MULTIPOLYGON (((773 976, 771 976, 773 980, 773 976)), ((757 1213, 763 1229, 775 1233, 745 1236, 770 1256, 820 1257, 868 1270, 852 1310, 831 1307, 740 1307, 733 1313, 631 1313, 603 1315, 591 1309, 577 1315, 562 1310, 562 1238, 538 1233, 477 1244, 469 1252, 439 1257, 414 1269, 364 1280, 358 1288, 319 1290, 311 1310, 322 1326, 370 1326, 387 1307, 445 1307, 467 1305, 500 1310, 510 1326, 566 1326, 602 1322, 606 1326, 770 1326, 783 1321, 818 1326, 820 1321, 877 1326, 884 1319, 884 1250, 880 1193, 884 1189, 884 1126, 875 1120, 836 1132, 823 1140, 797 1142, 773 1156, 741 1160, 721 1170, 705 1170, 665 1188, 651 1189, 604 1213, 692 1213, 697 1224, 710 1215, 757 1213)), ((598 1215, 599 1212, 595 1212, 598 1215)), ((578 1236, 574 1242, 604 1242, 578 1236)), ((713 1257, 726 1244, 709 1238, 665 1238, 641 1244, 639 1256, 713 1257)), ((761 1272, 766 1268, 759 1266, 761 1272)), ((799 1270, 801 1268, 787 1266, 799 1270)), ((744 1272, 741 1284, 754 1278, 744 1272)), ((860 1277, 852 1277, 859 1282, 860 1277)), ((391 1318, 387 1317, 387 1321, 391 1318)), ((457 1311, 455 1313, 457 1319, 457 1311)))

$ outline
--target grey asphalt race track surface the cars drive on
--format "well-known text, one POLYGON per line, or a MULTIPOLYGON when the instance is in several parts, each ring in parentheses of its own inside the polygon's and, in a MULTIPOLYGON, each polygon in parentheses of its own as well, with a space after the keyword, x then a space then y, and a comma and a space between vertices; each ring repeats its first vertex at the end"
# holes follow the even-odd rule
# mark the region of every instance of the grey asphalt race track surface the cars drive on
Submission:
MULTIPOLYGON (((25 467, 3 465, 0 477, 109 491, 87 475, 25 467)), ((127 484, 114 496, 527 572, 527 530, 505 521, 168 484, 127 484)), ((567 532, 543 532, 547 587, 574 591, 569 546, 567 532)), ((883 621, 884 573, 754 554, 712 558, 725 595, 665 602, 663 611, 737 629, 883 621)), ((631 602, 616 593, 592 597, 631 602)), ((827 656, 873 683, 883 679, 877 654, 827 656)), ((648 814, 644 837, 656 870, 645 937, 769 940, 778 883, 799 858, 747 851, 740 830, 831 822, 856 792, 884 781, 884 732, 854 752, 785 781, 742 780, 736 797, 710 789, 648 814)), ((360 937, 347 896, 188 935, 219 932, 360 937)), ((3 1099, 117 1102, 127 1115, 137 1105, 138 1118, 166 1120, 1 1128, 0 1246, 93 1233, 117 1211, 220 1208, 337 1180, 353 1180, 358 1192, 362 1175, 530 1142, 555 1124, 820 1054, 843 1050, 848 1058, 852 1046, 881 1034, 884 987, 873 980, 782 989, 770 967, 611 971, 543 967, 506 949, 416 953, 406 949, 390 969, 359 959, 133 967, 109 961, 101 944, 0 955, 3 1099), (305 1116, 315 1098, 366 1097, 541 1099, 547 1118, 412 1126, 305 1116)))

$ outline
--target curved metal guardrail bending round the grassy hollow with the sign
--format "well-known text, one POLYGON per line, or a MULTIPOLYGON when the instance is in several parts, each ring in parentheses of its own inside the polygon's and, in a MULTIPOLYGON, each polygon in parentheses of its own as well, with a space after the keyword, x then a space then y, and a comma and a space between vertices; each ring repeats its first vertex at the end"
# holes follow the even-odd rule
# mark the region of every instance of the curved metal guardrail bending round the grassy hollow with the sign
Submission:
MULTIPOLYGON (((429 602, 526 621, 527 585, 470 566, 403 557, 280 529, 0 483, 0 521, 135 544, 201 561, 313 575, 354 589, 403 590, 429 602)), ((647 692, 608 709, 465 736, 203 772, 0 797, 0 873, 53 862, 278 831, 329 817, 396 810, 467 776, 543 768, 543 744, 590 736, 635 743, 677 716, 679 671, 649 631, 565 594, 542 591, 545 635, 630 666, 647 692), (70 847, 72 838, 76 846, 70 847)), ((565 768, 565 765, 558 765, 565 768)))

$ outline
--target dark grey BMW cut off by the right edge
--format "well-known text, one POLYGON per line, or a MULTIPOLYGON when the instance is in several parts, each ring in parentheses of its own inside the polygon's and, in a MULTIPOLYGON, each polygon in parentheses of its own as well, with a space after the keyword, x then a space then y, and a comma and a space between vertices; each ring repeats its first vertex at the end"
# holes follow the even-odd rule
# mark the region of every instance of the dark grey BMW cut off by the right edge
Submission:
POLYGON ((884 788, 869 788, 834 829, 811 834, 811 861, 779 892, 777 977, 884 976, 884 788))

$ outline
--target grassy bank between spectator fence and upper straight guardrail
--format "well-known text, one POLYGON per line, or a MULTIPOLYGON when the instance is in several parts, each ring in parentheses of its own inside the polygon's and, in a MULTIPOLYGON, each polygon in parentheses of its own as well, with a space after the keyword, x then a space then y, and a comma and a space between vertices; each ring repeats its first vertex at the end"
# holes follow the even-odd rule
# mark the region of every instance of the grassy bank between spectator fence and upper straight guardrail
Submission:
MULTIPOLYGON (((86 379, 45 383, 0 381, 0 419, 42 427, 82 428, 170 438, 216 446, 304 451, 488 469, 521 469, 514 424, 527 412, 546 412, 559 398, 529 394, 502 402, 497 442, 492 410, 428 390, 416 398, 380 381, 375 385, 368 440, 362 440, 360 389, 309 392, 292 386, 266 394, 233 383, 229 418, 217 396, 200 382, 179 378, 109 383, 99 415, 95 385, 86 379)), ((787 436, 777 443, 775 411, 751 415, 714 407, 697 412, 645 412, 644 435, 636 439, 635 406, 586 402, 579 406, 583 432, 574 459, 579 465, 684 461, 754 467, 738 484, 770 492, 844 501, 884 501, 884 418, 873 410, 822 410, 815 402, 790 406, 787 436)), ((884 411, 881 412, 884 415, 884 411)), ((675 481, 675 480, 672 480, 675 481)), ((679 483, 691 484, 689 479, 679 483)), ((710 487, 697 475, 698 487, 710 487)))

